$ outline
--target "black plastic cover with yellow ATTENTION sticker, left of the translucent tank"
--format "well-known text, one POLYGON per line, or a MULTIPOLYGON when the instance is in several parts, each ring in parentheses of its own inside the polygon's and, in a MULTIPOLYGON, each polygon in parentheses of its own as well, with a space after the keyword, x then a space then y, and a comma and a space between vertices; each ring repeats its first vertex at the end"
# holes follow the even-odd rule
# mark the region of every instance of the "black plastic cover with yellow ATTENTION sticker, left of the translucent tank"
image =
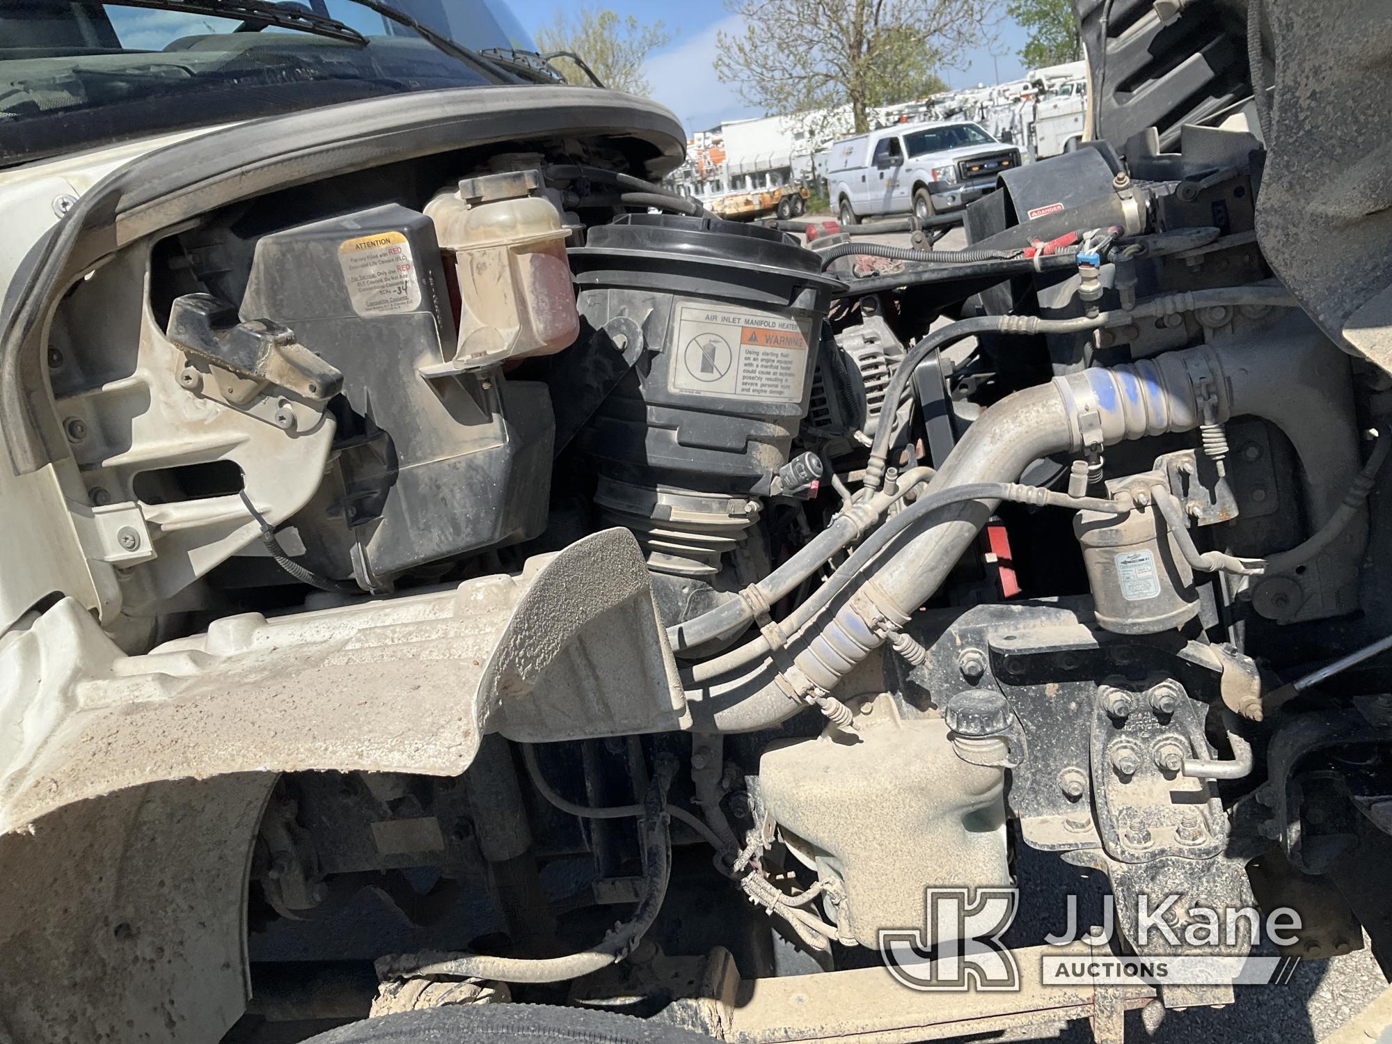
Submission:
POLYGON ((388 205, 259 239, 241 316, 288 326, 344 374, 337 468, 294 519, 317 571, 379 587, 544 529, 546 386, 419 373, 455 337, 425 214, 388 205))

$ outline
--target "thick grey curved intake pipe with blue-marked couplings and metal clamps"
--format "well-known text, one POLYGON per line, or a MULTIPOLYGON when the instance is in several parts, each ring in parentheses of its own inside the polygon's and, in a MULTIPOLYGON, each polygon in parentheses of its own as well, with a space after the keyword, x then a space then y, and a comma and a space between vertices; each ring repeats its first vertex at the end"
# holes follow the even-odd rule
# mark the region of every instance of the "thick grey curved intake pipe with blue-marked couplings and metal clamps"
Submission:
MULTIPOLYGON (((1150 302, 1146 313, 1246 303, 1292 302, 1276 288, 1242 287, 1173 295, 1150 302)), ((1311 518, 1327 521, 1345 491, 1328 496, 1327 476, 1342 473, 1340 461, 1356 452, 1347 361, 1313 324, 1295 320, 1275 345, 1249 338, 1187 348, 1091 367, 1008 395, 967 429, 924 500, 966 483, 1011 482, 1043 457, 1189 432, 1233 416, 1260 416, 1286 433, 1306 476, 1311 518)), ((693 731, 770 728, 803 709, 791 693, 806 697, 834 689, 937 592, 995 508, 994 498, 970 498, 924 509, 912 526, 905 523, 892 546, 832 596, 828 608, 839 601, 835 615, 816 628, 809 622, 789 642, 791 663, 763 658, 742 677, 688 689, 693 731)))

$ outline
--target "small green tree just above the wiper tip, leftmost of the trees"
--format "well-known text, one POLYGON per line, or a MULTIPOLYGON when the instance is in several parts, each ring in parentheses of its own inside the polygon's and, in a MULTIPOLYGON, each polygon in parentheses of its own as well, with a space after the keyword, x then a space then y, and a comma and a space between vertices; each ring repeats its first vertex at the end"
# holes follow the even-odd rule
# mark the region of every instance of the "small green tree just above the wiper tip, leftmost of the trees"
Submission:
MULTIPOLYGON (((575 15, 557 8, 548 25, 536 31, 540 50, 571 50, 594 70, 606 86, 646 95, 653 88, 643 75, 647 56, 671 43, 672 36, 660 21, 646 25, 633 15, 621 18, 607 7, 582 7, 575 15)), ((589 84, 579 65, 568 58, 553 63, 571 84, 589 84)))

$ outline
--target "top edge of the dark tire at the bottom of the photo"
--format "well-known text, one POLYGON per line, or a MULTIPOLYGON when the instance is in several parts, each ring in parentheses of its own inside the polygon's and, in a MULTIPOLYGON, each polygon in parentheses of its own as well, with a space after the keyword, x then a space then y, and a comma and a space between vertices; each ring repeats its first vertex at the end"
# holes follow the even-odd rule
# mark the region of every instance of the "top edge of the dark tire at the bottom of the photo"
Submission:
POLYGON ((703 1033, 541 1004, 448 1005, 340 1026, 305 1044, 702 1044, 703 1033))

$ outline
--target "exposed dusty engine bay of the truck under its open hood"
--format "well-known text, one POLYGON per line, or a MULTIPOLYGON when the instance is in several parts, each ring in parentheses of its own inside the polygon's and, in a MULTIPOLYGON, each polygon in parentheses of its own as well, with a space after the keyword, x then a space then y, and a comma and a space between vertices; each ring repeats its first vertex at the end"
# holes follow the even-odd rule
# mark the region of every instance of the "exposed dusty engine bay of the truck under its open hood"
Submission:
MULTIPOLYGON (((249 827, 199 885, 245 947, 223 1040, 508 1001, 721 1036, 721 990, 878 969, 926 889, 1052 903, 1044 857, 1118 954, 1244 956, 1139 909, 1314 889, 1281 952, 1385 962, 1388 374, 1274 277, 1258 146, 1027 164, 949 251, 514 142, 72 283, 46 377, 103 594, 0 653, 159 704, 92 793, 249 827)), ((1160 984, 1097 1038, 1157 992, 1233 1001, 1160 984)))

